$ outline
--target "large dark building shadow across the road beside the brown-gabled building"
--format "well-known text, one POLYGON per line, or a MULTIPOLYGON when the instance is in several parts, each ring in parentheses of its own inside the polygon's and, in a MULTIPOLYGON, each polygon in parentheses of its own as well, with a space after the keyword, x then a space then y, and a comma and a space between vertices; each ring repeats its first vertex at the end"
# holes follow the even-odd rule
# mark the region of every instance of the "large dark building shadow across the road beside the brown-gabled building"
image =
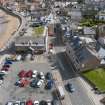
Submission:
POLYGON ((78 76, 78 73, 74 72, 73 65, 68 62, 65 52, 60 52, 56 54, 58 70, 61 74, 63 80, 72 79, 78 76))

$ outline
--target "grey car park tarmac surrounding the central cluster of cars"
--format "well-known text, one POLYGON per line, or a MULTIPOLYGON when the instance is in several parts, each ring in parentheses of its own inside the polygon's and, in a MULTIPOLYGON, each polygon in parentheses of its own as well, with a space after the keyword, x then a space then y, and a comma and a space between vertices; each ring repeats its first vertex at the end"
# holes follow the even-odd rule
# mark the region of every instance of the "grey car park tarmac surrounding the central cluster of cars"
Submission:
POLYGON ((26 87, 17 87, 14 85, 15 82, 19 80, 17 74, 21 70, 37 70, 44 74, 51 71, 47 58, 44 59, 46 59, 46 62, 43 61, 41 63, 37 62, 38 60, 13 62, 8 74, 4 78, 3 84, 0 87, 0 105, 5 105, 8 101, 25 101, 28 99, 32 99, 33 101, 53 100, 52 91, 54 90, 54 87, 51 90, 46 90, 45 84, 40 88, 32 88, 30 85, 27 85, 26 87))

